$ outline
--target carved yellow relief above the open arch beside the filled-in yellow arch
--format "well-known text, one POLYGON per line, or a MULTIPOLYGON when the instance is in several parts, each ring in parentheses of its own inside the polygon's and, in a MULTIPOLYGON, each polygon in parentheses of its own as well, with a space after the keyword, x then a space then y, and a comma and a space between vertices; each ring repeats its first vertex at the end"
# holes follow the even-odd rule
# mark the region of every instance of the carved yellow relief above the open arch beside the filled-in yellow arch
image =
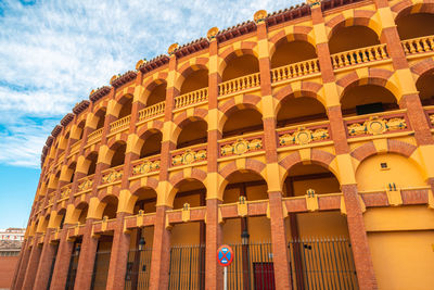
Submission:
POLYGON ((327 140, 330 138, 329 130, 326 128, 320 128, 316 130, 306 129, 304 127, 299 127, 294 133, 286 133, 279 136, 279 144, 280 146, 290 146, 290 144, 308 144, 314 141, 327 140))

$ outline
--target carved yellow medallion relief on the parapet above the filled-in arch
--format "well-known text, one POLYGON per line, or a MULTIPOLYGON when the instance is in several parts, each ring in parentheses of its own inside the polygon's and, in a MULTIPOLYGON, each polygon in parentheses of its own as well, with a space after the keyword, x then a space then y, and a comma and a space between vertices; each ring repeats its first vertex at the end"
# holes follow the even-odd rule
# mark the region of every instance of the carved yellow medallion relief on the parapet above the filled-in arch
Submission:
POLYGON ((404 117, 384 119, 382 117, 370 117, 363 123, 354 123, 347 126, 349 136, 357 135, 381 135, 385 131, 403 130, 407 128, 404 117))

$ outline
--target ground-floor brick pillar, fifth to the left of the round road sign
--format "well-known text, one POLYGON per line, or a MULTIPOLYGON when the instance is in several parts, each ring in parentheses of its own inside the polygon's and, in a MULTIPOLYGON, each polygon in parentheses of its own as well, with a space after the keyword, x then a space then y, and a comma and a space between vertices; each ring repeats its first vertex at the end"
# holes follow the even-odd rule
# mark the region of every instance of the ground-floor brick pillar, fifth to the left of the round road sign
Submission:
POLYGON ((73 249, 74 242, 67 240, 67 227, 65 227, 61 231, 61 240, 59 242, 58 255, 55 257, 53 275, 51 278, 51 290, 65 289, 73 249))

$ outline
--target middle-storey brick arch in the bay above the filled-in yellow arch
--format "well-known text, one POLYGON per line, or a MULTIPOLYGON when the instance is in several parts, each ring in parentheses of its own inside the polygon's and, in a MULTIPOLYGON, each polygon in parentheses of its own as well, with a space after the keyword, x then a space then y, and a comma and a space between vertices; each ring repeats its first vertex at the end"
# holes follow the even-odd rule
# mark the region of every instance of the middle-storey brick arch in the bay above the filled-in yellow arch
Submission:
POLYGON ((363 71, 360 75, 358 75, 357 72, 348 73, 336 80, 336 85, 341 91, 340 100, 342 100, 345 92, 350 88, 360 85, 376 85, 384 87, 395 96, 396 100, 399 100, 401 91, 399 86, 395 80, 393 80, 393 72, 384 68, 367 68, 367 71, 363 71))

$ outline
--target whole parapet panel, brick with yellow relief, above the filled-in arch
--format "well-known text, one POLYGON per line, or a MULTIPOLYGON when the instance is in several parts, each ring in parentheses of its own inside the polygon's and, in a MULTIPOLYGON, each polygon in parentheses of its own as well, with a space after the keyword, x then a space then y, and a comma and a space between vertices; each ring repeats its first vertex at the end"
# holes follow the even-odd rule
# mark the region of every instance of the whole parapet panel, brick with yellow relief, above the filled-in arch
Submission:
POLYGON ((345 118, 348 138, 409 130, 406 110, 345 118))

